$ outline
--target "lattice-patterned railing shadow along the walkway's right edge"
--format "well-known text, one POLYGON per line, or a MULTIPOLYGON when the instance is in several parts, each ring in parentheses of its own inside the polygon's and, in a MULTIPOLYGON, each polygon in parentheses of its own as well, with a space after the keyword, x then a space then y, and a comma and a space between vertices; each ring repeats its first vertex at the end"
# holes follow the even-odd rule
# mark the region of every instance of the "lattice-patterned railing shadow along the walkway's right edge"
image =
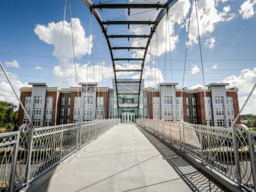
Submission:
MULTIPOLYGON (((190 165, 182 157, 170 150, 164 143, 155 136, 136 125, 142 134, 155 146, 163 158, 174 168, 176 173, 193 191, 224 191, 216 183, 212 182, 205 175, 190 165)), ((225 189, 226 190, 226 189, 225 189)))

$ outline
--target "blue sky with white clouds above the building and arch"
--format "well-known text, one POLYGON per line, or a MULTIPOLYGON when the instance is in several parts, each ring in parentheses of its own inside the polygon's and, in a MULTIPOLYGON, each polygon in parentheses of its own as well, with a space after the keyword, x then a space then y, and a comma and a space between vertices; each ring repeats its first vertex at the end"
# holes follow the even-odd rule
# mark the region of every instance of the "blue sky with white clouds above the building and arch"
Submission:
MULTIPOLYGON (((144 1, 139 0, 141 3, 144 1)), ((139 2, 138 1, 138 2, 139 2)), ((98 3, 99 1, 94 1, 98 3)), ((102 1, 101 1, 102 2, 102 1)), ((104 2, 104 1, 103 1, 104 2)), ((115 2, 113 2, 115 3, 115 2)), ((127 1, 116 1, 116 3, 129 3, 127 1)), ((137 3, 137 1, 136 1, 137 3)), ((235 0, 235 1, 223 1, 223 0, 199 0, 198 11, 202 17, 199 20, 200 33, 201 33, 201 46, 204 65, 204 74, 206 84, 211 82, 229 82, 230 87, 237 87, 239 91, 239 102, 243 104, 246 96, 249 93, 249 89, 252 88, 253 83, 256 81, 256 2, 252 0, 235 0), (206 12, 204 12, 206 10, 206 12), (253 70, 254 69, 254 70, 253 70)), ((58 33, 62 24, 59 23, 63 19, 63 7, 64 1, 1 1, 0 6, 0 61, 4 64, 5 69, 10 74, 10 77, 15 84, 15 88, 18 91, 20 87, 26 86, 27 82, 46 82, 52 87, 57 86, 57 66, 59 60, 56 57, 59 55, 59 44, 61 39, 61 33, 58 33), (52 23, 52 28, 49 27, 49 23, 52 23), (59 23, 59 25, 57 25, 59 23), (54 37, 50 37, 53 35, 54 37), (54 54, 55 51, 55 54, 54 54), (37 67, 36 67, 37 66, 37 67), (55 67, 55 70, 54 70, 55 67), (42 76, 42 77, 41 77, 42 76)), ((90 49, 90 55, 88 59, 88 41, 89 41, 89 28, 90 28, 90 12, 88 8, 82 3, 82 1, 72 1, 72 18, 74 20, 74 28, 78 27, 77 33, 74 38, 77 45, 83 42, 83 46, 75 46, 77 52, 78 68, 78 81, 87 80, 86 69, 89 66, 89 81, 93 80, 93 65, 97 69, 97 66, 101 66, 101 69, 95 70, 95 81, 98 81, 101 86, 112 87, 113 75, 111 74, 112 62, 110 60, 110 53, 106 47, 106 41, 104 36, 101 36, 100 27, 94 17, 92 17, 92 30, 91 43, 93 44, 90 49), (84 33, 85 34, 84 34, 84 33), (100 38, 102 37, 101 46, 100 38), (100 52, 101 50, 101 52, 100 52), (101 54, 101 56, 100 56, 101 54), (82 57, 82 58, 81 58, 82 57), (93 59, 94 57, 94 59, 93 59), (89 60, 89 65, 88 64, 89 60), (102 64, 103 62, 103 64, 102 64), (102 70, 103 69, 103 70, 102 70), (109 69, 109 70, 106 70, 109 69), (100 79, 99 77, 100 73, 100 79)), ((182 74, 184 68, 184 56, 185 56, 185 42, 187 35, 187 19, 188 19, 189 1, 179 0, 178 3, 171 9, 169 15, 170 25, 170 39, 171 46, 167 42, 167 60, 165 58, 165 19, 162 19, 162 24, 159 25, 159 69, 160 76, 158 76, 158 66, 156 65, 154 58, 155 55, 155 40, 152 40, 152 55, 148 56, 148 60, 145 63, 144 79, 146 81, 145 86, 154 86, 155 82, 164 81, 164 65, 165 65, 165 82, 171 82, 170 75, 170 57, 169 50, 172 52, 172 65, 173 65, 173 79, 174 82, 178 82, 179 86, 182 86, 182 74), (181 9, 182 8, 182 9, 181 9), (176 12, 181 10, 180 12, 176 12), (169 49, 170 47, 170 49, 169 49), (152 69, 153 70, 150 70, 152 69), (156 73, 155 73, 156 72, 156 73), (156 74, 156 76, 155 76, 156 74), (152 82, 152 84, 150 84, 152 82)), ((124 16, 126 10, 113 10, 113 11, 100 11, 103 19, 113 19, 116 17, 124 16), (119 13, 115 13, 117 11, 119 13), (120 14, 121 13, 121 14, 120 14)), ((136 10, 136 13, 141 10, 136 10)), ((135 12, 132 12, 135 13, 135 12)), ((195 9, 193 9, 191 19, 195 22, 195 9)), ((157 15, 157 11, 153 10, 145 14, 139 14, 142 18, 154 19, 157 15)), ((135 18, 124 17, 119 20, 131 20, 135 18)), ((66 30, 69 30, 70 15, 67 7, 66 12, 66 30)), ((202 86, 202 69, 200 62, 200 52, 198 44, 196 25, 193 25, 191 20, 191 36, 189 40, 187 64, 185 72, 184 87, 197 88, 202 86)), ((109 34, 120 32, 127 28, 127 26, 115 26, 108 27, 109 34)), ((137 26, 131 26, 134 28, 137 26)), ((150 28, 143 27, 136 30, 135 33, 146 33, 150 28)), ((75 32, 74 32, 75 33, 75 32)), ((168 34, 168 32, 167 32, 168 34)), ((156 36, 156 35, 155 35, 156 36)), ((69 45, 63 46, 62 56, 72 57, 72 45, 70 35, 64 35, 64 42, 69 45)), ((132 41, 132 40, 130 40, 132 41)), ((168 35, 167 35, 168 41, 168 35)), ((127 39, 115 39, 111 40, 112 45, 121 45, 127 43, 127 39)), ((133 45, 136 45, 134 42, 133 45)), ((142 42, 143 44, 143 42, 142 42)), ((132 45, 132 44, 130 44, 132 45)), ((127 46, 130 46, 127 44, 127 46)), ((119 57, 126 53, 114 52, 114 57, 119 57)), ((138 52, 138 55, 140 53, 138 52)), ((124 57, 135 57, 136 55, 127 55, 124 57)), ((74 76, 73 60, 62 59, 60 87, 68 88, 75 86, 75 79, 68 79, 68 77, 74 76)), ((134 68, 138 67, 140 62, 117 62, 119 68, 134 68)), ((118 78, 136 78, 138 73, 121 74, 118 78)), ((7 100, 16 102, 13 93, 8 87, 8 83, 3 75, 0 76, 1 83, 1 100, 7 100)), ((250 99, 248 108, 244 113, 256 114, 255 106, 255 94, 250 99)))

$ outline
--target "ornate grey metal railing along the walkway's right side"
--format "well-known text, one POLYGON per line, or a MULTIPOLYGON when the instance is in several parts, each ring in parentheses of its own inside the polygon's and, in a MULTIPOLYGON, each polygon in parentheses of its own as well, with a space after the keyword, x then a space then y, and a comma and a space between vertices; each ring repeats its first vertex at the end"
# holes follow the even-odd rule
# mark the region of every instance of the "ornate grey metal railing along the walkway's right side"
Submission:
POLYGON ((137 119, 137 124, 195 157, 248 191, 256 191, 256 133, 243 124, 234 129, 183 121, 137 119))

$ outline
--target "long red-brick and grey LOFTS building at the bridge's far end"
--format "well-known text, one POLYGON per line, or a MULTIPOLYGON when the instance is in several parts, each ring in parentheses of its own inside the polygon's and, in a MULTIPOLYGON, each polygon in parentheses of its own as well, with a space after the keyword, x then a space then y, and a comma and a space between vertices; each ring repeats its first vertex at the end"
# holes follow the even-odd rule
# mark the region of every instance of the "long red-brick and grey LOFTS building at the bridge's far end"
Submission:
MULTIPOLYGON (((182 90, 177 88, 178 83, 159 83, 157 88, 144 88, 142 83, 139 98, 138 87, 132 81, 119 81, 118 97, 116 89, 98 87, 97 83, 81 82, 78 91, 77 88, 57 90, 46 83, 29 83, 31 87, 20 89, 20 100, 35 127, 54 125, 55 114, 57 125, 118 117, 127 123, 139 117, 230 127, 239 114, 238 89, 227 89, 228 83, 208 84, 206 98, 202 88, 182 90)), ((18 125, 23 123, 28 123, 28 118, 19 107, 18 125)))

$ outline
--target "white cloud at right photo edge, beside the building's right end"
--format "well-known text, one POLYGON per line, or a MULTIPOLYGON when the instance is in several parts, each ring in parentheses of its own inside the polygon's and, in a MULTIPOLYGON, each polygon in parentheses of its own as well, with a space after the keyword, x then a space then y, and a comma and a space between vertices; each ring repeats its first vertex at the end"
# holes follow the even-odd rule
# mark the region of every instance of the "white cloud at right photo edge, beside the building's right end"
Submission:
MULTIPOLYGON (((239 89, 238 96, 239 96, 240 109, 242 108, 242 105, 244 104, 247 96, 249 95, 251 89, 253 88, 255 79, 256 79, 256 68, 254 68, 253 70, 244 69, 240 72, 238 76, 230 75, 223 80, 223 82, 230 83, 230 87, 236 87, 239 89)), ((256 91, 254 90, 253 94, 251 95, 251 98, 249 99, 242 113, 256 114, 255 106, 256 106, 256 91)))

